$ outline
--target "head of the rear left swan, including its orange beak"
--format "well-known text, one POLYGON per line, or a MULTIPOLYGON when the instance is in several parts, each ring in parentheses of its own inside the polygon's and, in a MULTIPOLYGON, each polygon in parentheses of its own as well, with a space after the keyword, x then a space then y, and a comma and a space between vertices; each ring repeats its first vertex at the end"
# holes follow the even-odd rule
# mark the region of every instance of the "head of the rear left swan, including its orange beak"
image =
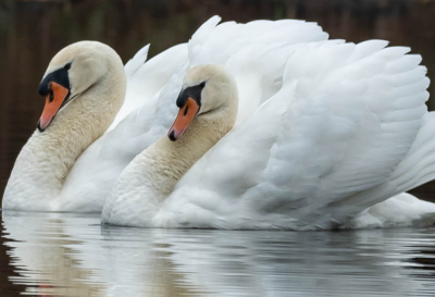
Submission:
POLYGON ((121 58, 112 48, 98 41, 76 42, 58 52, 38 88, 39 95, 46 97, 37 125, 39 132, 44 132, 69 102, 99 83, 113 66, 123 67, 121 58))

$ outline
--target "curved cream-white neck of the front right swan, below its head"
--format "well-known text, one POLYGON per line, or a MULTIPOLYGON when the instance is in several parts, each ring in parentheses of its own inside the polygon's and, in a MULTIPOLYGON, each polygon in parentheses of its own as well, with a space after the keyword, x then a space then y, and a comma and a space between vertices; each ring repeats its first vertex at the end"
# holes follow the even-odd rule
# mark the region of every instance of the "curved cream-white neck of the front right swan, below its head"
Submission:
POLYGON ((227 104, 194 119, 175 143, 165 135, 137 156, 109 195, 102 222, 128 225, 132 223, 128 218, 140 213, 137 218, 141 222, 135 225, 153 226, 156 214, 178 180, 234 126, 238 104, 236 89, 233 95, 227 104), (120 205, 121 211, 114 214, 112 211, 120 205))

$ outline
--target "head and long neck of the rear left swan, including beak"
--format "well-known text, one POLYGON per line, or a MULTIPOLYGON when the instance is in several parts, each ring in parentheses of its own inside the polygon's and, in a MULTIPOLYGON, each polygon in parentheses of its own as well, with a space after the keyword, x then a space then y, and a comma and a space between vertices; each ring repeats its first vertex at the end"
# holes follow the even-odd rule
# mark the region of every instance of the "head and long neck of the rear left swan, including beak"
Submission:
POLYGON ((49 209, 77 157, 113 122, 125 88, 123 63, 110 47, 84 41, 61 50, 39 85, 46 106, 15 161, 2 207, 49 209))

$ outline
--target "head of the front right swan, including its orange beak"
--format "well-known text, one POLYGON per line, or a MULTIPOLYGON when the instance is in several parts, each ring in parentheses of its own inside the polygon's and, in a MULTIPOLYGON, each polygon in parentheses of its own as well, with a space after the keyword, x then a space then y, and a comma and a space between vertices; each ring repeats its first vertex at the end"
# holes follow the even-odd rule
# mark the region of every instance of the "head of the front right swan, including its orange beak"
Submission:
POLYGON ((232 103, 237 107, 237 86, 225 66, 204 64, 190 69, 176 100, 179 111, 167 133, 169 138, 177 140, 196 116, 211 114, 232 103))

